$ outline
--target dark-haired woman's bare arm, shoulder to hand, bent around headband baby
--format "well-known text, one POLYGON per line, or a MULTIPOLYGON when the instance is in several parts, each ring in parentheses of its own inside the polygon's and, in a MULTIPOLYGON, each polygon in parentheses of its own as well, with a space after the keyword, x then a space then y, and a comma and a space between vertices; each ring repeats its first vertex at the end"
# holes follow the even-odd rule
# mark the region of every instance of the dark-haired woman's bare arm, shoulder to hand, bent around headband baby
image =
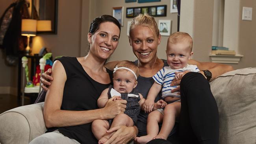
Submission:
POLYGON ((48 88, 44 107, 44 120, 46 127, 76 126, 93 122, 96 119, 114 118, 126 108, 126 101, 108 101, 102 109, 88 111, 61 110, 63 89, 67 79, 65 69, 61 62, 55 61, 52 67, 54 81, 48 88))

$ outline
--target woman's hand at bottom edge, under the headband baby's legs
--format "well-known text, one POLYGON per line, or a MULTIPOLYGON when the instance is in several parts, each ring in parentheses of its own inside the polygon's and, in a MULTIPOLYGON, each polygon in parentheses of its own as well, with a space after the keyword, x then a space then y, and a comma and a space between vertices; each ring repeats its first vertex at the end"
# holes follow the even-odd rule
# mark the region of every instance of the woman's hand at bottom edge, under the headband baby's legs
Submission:
POLYGON ((116 126, 107 133, 115 132, 104 144, 127 144, 136 137, 135 127, 116 126))

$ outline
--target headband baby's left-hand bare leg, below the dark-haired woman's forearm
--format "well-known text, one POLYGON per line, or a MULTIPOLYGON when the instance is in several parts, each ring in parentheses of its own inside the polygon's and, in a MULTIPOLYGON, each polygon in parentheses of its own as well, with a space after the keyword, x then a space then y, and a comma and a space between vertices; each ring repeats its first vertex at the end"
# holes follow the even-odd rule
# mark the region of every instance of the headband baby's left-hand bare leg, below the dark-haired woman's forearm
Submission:
POLYGON ((109 123, 107 120, 95 120, 92 123, 92 131, 94 136, 99 140, 102 138, 106 131, 109 129, 109 123))

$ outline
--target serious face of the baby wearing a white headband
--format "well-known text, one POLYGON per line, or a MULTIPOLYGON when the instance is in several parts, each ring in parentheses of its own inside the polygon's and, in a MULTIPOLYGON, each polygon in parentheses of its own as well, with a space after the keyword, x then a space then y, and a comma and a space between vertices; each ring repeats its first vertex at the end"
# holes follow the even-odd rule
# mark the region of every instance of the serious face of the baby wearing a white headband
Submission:
POLYGON ((137 86, 137 80, 128 70, 119 69, 114 73, 113 87, 119 93, 130 93, 137 86))

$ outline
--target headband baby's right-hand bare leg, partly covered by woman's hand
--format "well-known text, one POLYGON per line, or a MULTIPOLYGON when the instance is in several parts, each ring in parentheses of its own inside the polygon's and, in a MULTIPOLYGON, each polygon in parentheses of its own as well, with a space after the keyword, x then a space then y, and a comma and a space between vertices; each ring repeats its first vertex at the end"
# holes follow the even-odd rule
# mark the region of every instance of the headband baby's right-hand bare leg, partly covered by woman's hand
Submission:
MULTIPOLYGON (((127 114, 124 114, 124 113, 121 113, 121 114, 118 114, 112 124, 111 124, 111 127, 115 127, 115 126, 134 126, 134 122, 132 120, 132 118, 130 118, 127 114)), ((99 144, 104 144, 113 134, 113 133, 105 133, 104 137, 102 137, 100 140, 99 140, 99 144)))

